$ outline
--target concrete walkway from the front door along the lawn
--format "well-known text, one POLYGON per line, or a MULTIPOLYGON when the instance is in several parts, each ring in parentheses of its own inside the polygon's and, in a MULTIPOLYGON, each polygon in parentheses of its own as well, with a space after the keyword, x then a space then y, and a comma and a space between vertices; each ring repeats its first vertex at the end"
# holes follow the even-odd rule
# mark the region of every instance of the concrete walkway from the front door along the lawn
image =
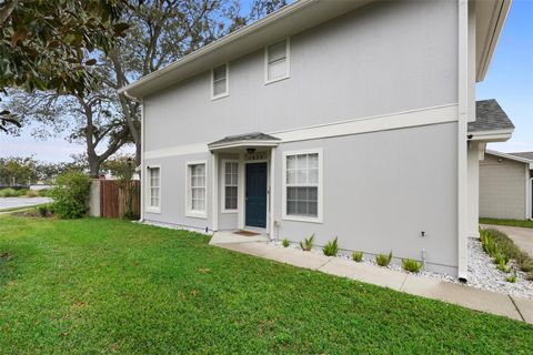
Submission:
POLYGON ((232 232, 219 232, 213 235, 210 244, 533 324, 532 300, 303 252, 293 247, 279 247, 266 242, 268 236, 264 235, 242 236, 232 232))

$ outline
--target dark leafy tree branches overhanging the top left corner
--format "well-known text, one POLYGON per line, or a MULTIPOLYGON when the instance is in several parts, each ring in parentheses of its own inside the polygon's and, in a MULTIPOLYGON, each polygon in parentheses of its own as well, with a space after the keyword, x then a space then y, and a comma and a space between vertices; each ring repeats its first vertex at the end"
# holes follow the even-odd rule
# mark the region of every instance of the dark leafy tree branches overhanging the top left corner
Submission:
MULTIPOLYGON (((88 52, 107 53, 128 28, 125 0, 0 0, 0 95, 7 88, 83 94, 88 52)), ((1 98, 0 98, 1 100, 1 98)), ((0 131, 19 125, 0 112, 0 131)))

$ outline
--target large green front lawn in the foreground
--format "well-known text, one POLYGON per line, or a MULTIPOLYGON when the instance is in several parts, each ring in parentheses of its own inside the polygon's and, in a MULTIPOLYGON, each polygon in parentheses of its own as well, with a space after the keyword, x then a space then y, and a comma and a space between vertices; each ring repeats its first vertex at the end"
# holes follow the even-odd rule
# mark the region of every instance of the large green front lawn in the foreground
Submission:
POLYGON ((533 326, 123 221, 0 217, 2 354, 531 354, 533 326))

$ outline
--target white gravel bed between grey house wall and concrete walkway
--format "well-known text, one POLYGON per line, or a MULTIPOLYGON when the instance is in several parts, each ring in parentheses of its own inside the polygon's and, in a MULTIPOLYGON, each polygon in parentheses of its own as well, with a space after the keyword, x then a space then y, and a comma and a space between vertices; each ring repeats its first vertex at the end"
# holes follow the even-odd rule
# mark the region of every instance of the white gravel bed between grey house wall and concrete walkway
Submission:
MULTIPOLYGON (((282 241, 273 241, 271 244, 279 247, 284 247, 282 241)), ((300 250, 300 245, 298 244, 291 244, 289 247, 300 250)), ((319 255, 324 254, 322 248, 313 248, 311 252, 319 255)), ((336 257, 352 260, 351 254, 348 255, 341 253, 342 252, 340 252, 336 257)), ((364 257, 362 263, 382 267, 375 263, 374 258, 364 257)), ((386 267, 401 273, 411 274, 404 271, 400 264, 391 263, 386 267)), ((513 268, 516 270, 517 267, 513 268)), ((492 262, 492 258, 483 251, 481 242, 476 239, 469 239, 469 282, 466 284, 461 283, 455 276, 425 270, 421 271, 416 275, 533 300, 533 282, 525 280, 525 274, 520 270, 516 271, 515 283, 506 282, 505 278, 512 275, 512 273, 504 273, 497 270, 496 265, 492 262)))

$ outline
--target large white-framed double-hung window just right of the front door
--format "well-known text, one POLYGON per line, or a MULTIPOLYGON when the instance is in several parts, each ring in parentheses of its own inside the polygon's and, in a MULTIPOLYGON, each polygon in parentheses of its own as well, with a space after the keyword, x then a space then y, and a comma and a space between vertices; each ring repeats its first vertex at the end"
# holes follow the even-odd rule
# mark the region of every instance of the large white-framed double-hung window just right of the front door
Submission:
POLYGON ((322 221, 322 153, 320 150, 284 154, 283 216, 322 221))

